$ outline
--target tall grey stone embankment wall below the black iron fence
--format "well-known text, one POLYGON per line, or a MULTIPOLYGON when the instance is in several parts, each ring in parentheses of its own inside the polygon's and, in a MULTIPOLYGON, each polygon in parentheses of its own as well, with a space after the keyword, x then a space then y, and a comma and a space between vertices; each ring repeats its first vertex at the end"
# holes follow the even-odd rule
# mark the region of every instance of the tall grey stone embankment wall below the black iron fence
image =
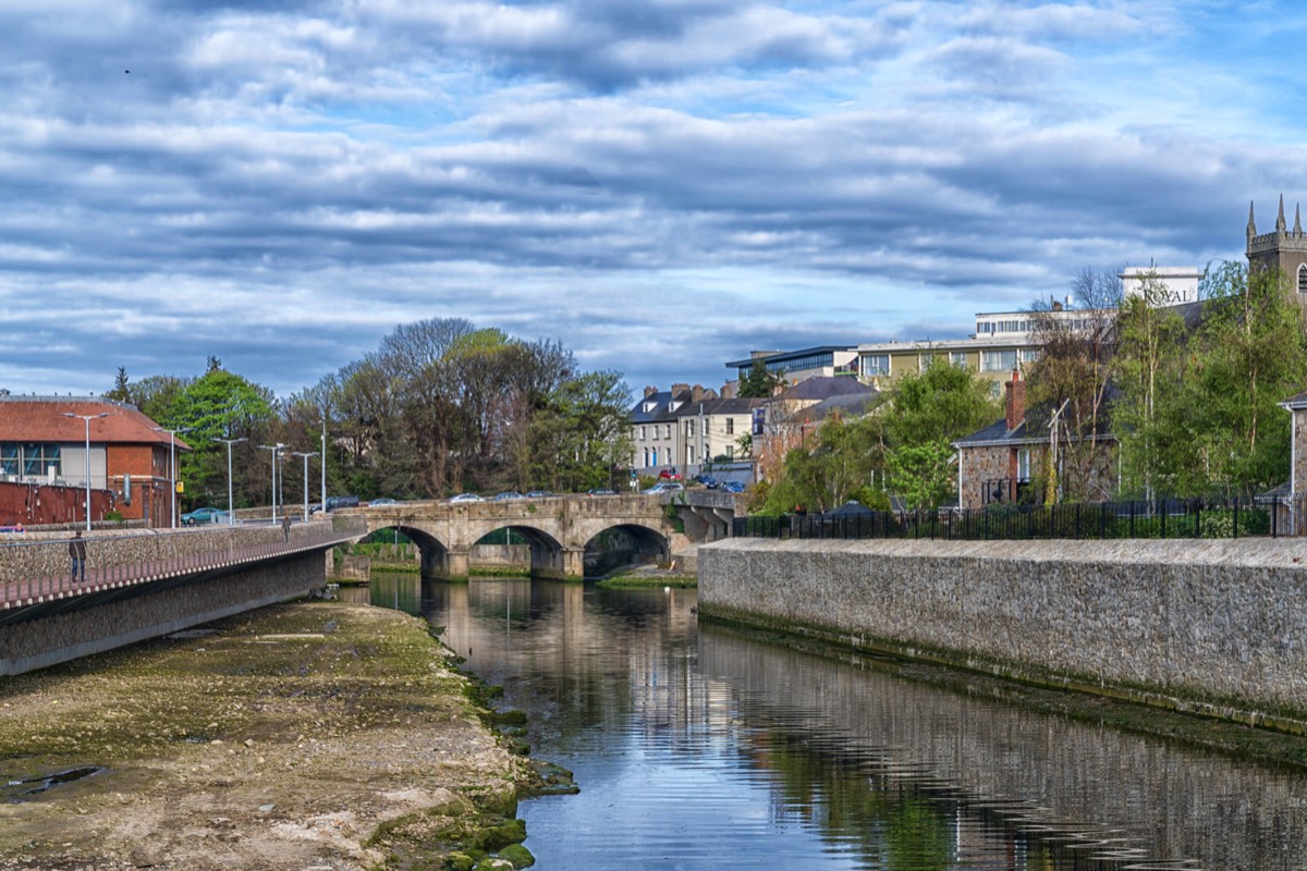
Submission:
POLYGON ((699 611, 1307 731, 1302 539, 738 538, 699 548, 699 611))

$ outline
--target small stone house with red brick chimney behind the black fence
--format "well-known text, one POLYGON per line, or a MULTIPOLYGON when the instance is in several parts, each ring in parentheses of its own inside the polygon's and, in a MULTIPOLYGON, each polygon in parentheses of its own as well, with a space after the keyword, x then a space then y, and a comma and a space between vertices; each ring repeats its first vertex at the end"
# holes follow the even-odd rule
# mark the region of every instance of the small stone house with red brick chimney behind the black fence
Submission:
MULTIPOLYGON (((1013 370, 1004 384, 1004 406, 1001 419, 953 443, 958 451, 958 504, 962 508, 1044 501, 1040 482, 1053 449, 1053 410, 1040 406, 1027 411, 1026 383, 1019 370, 1013 370)), ((1084 487, 1108 494, 1115 483, 1116 439, 1100 431, 1097 441, 1084 487)), ((1065 439, 1059 439, 1059 444, 1065 444, 1065 439)), ((1057 465, 1063 474, 1060 460, 1057 465)))

